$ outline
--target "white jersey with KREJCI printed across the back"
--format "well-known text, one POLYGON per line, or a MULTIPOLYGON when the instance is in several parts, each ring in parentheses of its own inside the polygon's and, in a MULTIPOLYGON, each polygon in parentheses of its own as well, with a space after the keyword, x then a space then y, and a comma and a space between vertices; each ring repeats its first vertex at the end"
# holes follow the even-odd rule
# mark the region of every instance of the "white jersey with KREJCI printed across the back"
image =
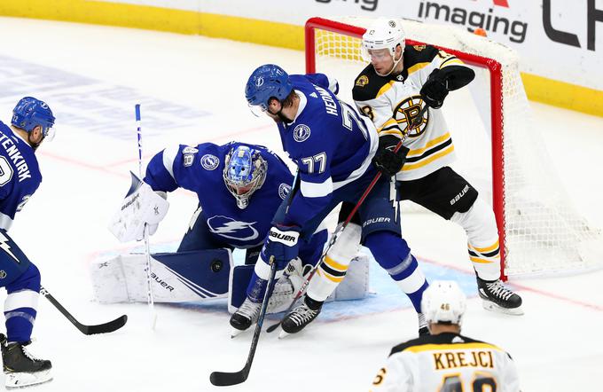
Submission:
POLYGON ((502 349, 458 333, 425 335, 395 346, 372 392, 517 392, 513 359, 502 349))

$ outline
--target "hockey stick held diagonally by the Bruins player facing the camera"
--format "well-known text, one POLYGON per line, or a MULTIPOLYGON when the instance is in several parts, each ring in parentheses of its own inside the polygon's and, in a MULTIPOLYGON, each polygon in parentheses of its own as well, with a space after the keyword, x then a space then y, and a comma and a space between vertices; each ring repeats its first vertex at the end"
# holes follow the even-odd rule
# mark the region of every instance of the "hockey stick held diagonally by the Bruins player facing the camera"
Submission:
MULTIPOLYGON (((409 129, 407 129, 406 132, 404 132, 403 137, 400 139, 400 141, 398 142, 398 144, 395 145, 394 153, 397 153, 398 150, 400 150, 400 148, 402 147, 403 141, 408 136, 408 133, 412 129, 415 129, 415 128, 419 127, 420 122, 422 122, 422 120, 423 120, 423 115, 427 112, 428 108, 429 108, 429 106, 427 106, 427 105, 423 106, 421 108, 421 110, 419 111, 419 114, 417 114, 417 116, 414 119, 412 119, 412 122, 411 122, 411 125, 409 126, 409 129)), ((348 218, 345 220, 345 222, 343 224, 341 224, 337 228, 337 230, 335 230, 335 232, 333 232, 333 236, 331 236, 331 240, 329 241, 329 245, 326 247, 325 251, 320 256, 320 261, 317 263, 317 265, 314 266, 314 268, 312 269, 312 271, 309 273, 308 278, 306 278, 306 280, 303 282, 302 287, 300 287, 300 289, 297 291, 297 294, 295 294, 293 302, 291 302, 291 304, 289 305, 289 307, 285 310, 285 316, 288 315, 289 312, 294 309, 295 302, 297 302, 297 300, 299 300, 300 297, 302 297, 302 295, 305 293, 306 289, 308 288, 310 279, 314 276, 314 274, 318 270, 318 267, 320 266, 320 264, 322 264, 325 261, 325 256, 329 253, 329 250, 335 244, 335 241, 337 240, 337 237, 339 237, 339 235, 341 234, 341 231, 343 231, 346 228, 346 226, 348 226, 348 223, 352 220, 352 218, 354 217, 354 215, 356 215, 356 211, 358 210, 358 208, 360 208, 360 206, 362 206, 362 204, 364 203, 364 199, 366 199, 366 197, 368 196, 369 192, 372 191, 372 188, 375 186, 375 184, 377 184, 377 181, 379 181, 380 177, 381 177, 381 172, 379 171, 374 176, 374 178, 372 178, 371 184, 369 184, 366 187, 366 190, 364 191, 364 193, 362 194, 362 196, 360 197, 360 199, 356 202, 356 206, 354 206, 354 208, 352 209, 352 212, 349 213, 348 218)), ((274 332, 278 328, 278 326, 280 326, 283 323, 283 319, 284 318, 285 317, 281 318, 280 321, 278 321, 277 324, 270 325, 266 329, 266 332, 267 333, 274 332)))

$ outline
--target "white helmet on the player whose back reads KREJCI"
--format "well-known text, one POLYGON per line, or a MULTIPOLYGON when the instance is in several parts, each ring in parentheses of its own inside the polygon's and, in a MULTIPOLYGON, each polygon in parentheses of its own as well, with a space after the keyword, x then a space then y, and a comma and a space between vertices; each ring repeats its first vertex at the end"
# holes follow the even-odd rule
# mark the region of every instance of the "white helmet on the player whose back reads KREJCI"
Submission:
POLYGON ((453 280, 435 280, 423 293, 421 311, 427 323, 461 324, 466 296, 453 280))

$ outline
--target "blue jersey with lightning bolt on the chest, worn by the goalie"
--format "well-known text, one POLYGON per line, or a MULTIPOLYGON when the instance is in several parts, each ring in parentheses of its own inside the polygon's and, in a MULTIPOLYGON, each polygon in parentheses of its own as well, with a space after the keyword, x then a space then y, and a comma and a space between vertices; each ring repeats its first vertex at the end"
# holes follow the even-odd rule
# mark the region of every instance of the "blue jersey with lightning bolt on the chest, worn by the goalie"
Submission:
POLYGON ((260 145, 247 145, 260 152, 268 170, 247 208, 240 209, 223 180, 224 157, 239 145, 247 144, 168 147, 149 162, 145 183, 153 191, 171 192, 182 187, 197 193, 208 229, 217 239, 232 247, 255 247, 268 234, 272 217, 291 190, 294 177, 275 153, 260 145))

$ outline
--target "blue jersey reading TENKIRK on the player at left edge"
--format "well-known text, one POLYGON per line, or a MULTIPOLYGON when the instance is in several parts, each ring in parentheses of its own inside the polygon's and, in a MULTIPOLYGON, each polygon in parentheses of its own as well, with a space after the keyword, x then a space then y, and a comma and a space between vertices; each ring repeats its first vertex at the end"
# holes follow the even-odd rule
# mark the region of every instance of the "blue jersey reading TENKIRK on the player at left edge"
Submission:
POLYGON ((34 149, 0 122, 0 228, 8 230, 42 182, 34 149))

